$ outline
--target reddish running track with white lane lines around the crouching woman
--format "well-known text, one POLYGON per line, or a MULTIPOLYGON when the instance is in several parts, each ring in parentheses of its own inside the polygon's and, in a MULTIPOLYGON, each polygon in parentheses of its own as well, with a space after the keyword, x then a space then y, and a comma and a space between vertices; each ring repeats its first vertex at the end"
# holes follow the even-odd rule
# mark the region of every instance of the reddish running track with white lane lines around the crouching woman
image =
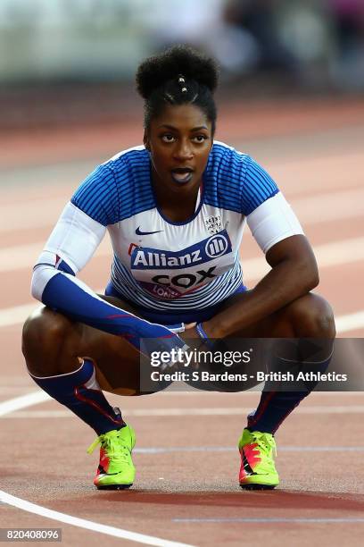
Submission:
MULTIPOLYGON (((97 457, 86 454, 93 433, 25 374, 21 322, 35 307, 29 279, 37 252, 79 180, 138 144, 139 133, 109 126, 0 137, 1 526, 62 527, 70 546, 361 545, 363 394, 315 393, 302 403, 277 434, 275 492, 236 485, 236 440, 257 393, 113 398, 136 428, 138 475, 129 492, 95 492, 97 457)), ((319 292, 335 308, 339 335, 362 337, 363 104, 301 101, 285 105, 285 114, 276 105, 230 105, 221 108, 218 138, 276 178, 314 245, 319 292)), ((82 274, 95 289, 107 280, 109 252, 105 241, 82 274)), ((242 254, 252 286, 265 263, 248 232, 242 254)))

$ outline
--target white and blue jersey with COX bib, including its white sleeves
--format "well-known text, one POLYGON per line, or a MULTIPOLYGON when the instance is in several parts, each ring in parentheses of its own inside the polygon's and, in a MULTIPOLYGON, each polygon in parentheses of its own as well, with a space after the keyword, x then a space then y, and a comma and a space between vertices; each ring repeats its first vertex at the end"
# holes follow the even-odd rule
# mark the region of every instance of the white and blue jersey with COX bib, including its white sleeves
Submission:
POLYGON ((172 223, 153 193, 149 152, 130 148, 99 165, 65 207, 36 265, 33 294, 50 305, 55 283, 52 291, 48 283, 61 273, 97 299, 73 276, 109 231, 110 292, 161 315, 216 307, 243 285, 245 223, 263 252, 302 233, 276 183, 250 156, 214 142, 194 215, 172 223))

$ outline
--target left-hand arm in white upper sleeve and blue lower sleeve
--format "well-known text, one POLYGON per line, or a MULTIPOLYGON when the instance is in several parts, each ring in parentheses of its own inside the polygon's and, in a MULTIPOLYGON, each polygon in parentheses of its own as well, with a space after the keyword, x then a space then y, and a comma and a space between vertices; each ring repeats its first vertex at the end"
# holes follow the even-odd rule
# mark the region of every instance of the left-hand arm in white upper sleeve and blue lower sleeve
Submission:
MULTIPOLYGON (((95 209, 95 202, 93 207, 95 209)), ((32 295, 74 321, 125 337, 136 349, 140 349, 142 337, 163 339, 165 349, 183 346, 169 329, 105 302, 76 278, 76 273, 93 256, 105 231, 103 223, 69 203, 35 265, 32 295)))

